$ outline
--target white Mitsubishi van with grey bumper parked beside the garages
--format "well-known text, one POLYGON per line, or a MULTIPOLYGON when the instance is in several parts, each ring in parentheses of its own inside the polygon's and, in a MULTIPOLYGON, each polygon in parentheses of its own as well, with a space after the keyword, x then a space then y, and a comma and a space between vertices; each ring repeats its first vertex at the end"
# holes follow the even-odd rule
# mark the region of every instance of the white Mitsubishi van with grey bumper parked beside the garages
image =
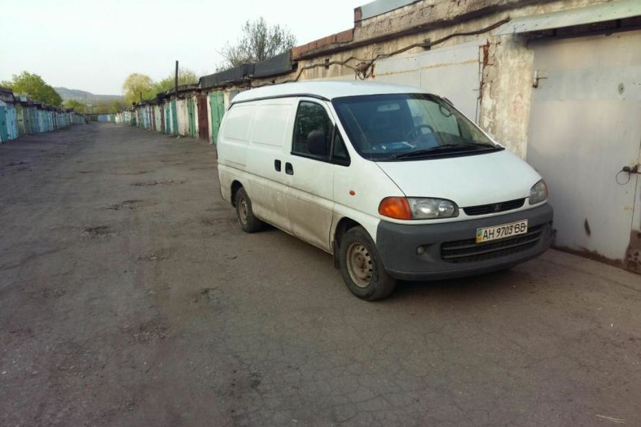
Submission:
POLYGON ((221 194, 334 255, 350 291, 501 270, 550 246, 548 189, 445 98, 371 82, 236 95, 218 133, 221 194))

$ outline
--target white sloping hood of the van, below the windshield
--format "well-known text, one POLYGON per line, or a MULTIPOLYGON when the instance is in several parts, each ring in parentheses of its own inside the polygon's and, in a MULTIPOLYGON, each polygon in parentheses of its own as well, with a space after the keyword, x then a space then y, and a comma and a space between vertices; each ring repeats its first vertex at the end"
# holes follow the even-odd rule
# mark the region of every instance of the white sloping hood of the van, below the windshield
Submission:
POLYGON ((459 207, 530 196, 541 176, 508 150, 445 159, 379 161, 407 197, 447 198, 459 207))

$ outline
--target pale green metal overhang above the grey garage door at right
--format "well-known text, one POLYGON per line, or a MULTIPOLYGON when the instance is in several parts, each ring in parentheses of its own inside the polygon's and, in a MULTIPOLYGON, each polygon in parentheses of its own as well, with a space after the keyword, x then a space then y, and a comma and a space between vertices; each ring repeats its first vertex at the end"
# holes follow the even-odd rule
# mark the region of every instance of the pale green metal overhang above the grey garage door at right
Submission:
POLYGON ((521 34, 641 16, 641 1, 619 0, 538 15, 520 16, 500 26, 495 36, 521 34))

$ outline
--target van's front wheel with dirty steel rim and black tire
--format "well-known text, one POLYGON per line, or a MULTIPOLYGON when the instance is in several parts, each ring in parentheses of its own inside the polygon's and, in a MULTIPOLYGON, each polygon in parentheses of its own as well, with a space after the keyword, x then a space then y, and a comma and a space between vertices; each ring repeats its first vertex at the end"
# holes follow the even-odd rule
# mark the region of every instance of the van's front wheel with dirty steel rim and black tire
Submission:
POLYGON ((383 299, 396 286, 396 280, 385 271, 376 244, 363 227, 345 233, 339 247, 339 262, 347 288, 360 299, 383 299))

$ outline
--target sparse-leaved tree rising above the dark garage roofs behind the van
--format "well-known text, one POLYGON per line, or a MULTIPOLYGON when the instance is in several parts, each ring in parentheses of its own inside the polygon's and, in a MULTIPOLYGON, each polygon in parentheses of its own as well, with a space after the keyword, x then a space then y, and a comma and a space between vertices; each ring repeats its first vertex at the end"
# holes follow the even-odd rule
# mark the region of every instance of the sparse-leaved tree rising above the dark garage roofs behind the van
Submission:
POLYGON ((296 38, 287 27, 269 25, 260 17, 243 25, 243 35, 236 45, 227 46, 221 51, 226 59, 219 69, 238 67, 247 62, 259 62, 282 54, 296 45, 296 38))

